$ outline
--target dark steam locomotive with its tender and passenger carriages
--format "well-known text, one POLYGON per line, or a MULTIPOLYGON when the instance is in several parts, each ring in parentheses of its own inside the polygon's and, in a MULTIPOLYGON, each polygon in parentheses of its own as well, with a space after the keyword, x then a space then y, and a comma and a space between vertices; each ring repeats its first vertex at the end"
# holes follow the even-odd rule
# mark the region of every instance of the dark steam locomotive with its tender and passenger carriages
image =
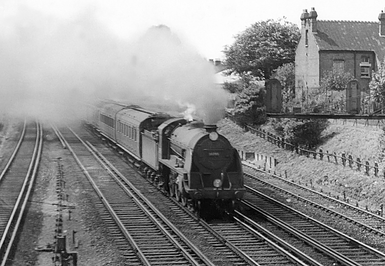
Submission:
POLYGON ((213 202, 232 210, 243 197, 240 157, 216 125, 116 102, 92 108, 88 123, 184 205, 198 213, 213 202))

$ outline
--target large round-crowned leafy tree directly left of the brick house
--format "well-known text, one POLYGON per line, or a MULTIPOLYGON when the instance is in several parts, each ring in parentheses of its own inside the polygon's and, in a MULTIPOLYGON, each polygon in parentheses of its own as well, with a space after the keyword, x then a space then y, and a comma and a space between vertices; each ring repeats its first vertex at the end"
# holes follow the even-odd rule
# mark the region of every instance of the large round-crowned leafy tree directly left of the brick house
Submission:
POLYGON ((297 25, 283 20, 252 24, 235 35, 235 42, 225 46, 227 73, 251 73, 269 79, 271 72, 285 63, 294 62, 300 38, 297 25))

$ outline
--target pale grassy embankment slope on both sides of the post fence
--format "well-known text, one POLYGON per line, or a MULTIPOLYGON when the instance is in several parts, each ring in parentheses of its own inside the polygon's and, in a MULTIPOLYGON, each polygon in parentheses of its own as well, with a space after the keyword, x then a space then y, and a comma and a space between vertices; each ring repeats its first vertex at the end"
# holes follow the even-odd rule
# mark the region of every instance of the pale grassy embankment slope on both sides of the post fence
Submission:
MULTIPOLYGON (((287 173, 287 177, 295 182, 314 186, 318 191, 330 192, 333 196, 343 198, 343 194, 361 207, 368 206, 372 211, 379 210, 381 203, 385 203, 385 179, 382 173, 383 162, 380 165, 379 176, 367 176, 350 167, 336 165, 328 161, 320 161, 305 156, 299 156, 291 151, 245 132, 241 127, 228 119, 218 123, 220 134, 237 149, 257 152, 278 160, 277 174, 287 173)), ((374 164, 378 156, 378 138, 380 130, 375 126, 364 127, 348 123, 342 125, 332 122, 322 132, 323 143, 318 147, 330 153, 341 153, 361 157, 361 161, 369 160, 374 164)), ((373 170, 371 169, 371 173, 373 170)))

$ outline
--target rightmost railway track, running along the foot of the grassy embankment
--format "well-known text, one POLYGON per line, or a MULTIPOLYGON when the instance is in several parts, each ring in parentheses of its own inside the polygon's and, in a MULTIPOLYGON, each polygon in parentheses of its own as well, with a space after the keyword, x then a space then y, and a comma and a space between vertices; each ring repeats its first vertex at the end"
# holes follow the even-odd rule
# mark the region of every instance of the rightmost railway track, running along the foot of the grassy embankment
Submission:
MULTIPOLYGON (((335 199, 326 194, 307 188, 303 185, 291 182, 277 175, 267 173, 261 169, 252 167, 248 163, 244 166, 253 170, 259 170, 263 174, 268 175, 269 180, 263 180, 255 175, 245 174, 246 177, 253 180, 253 184, 257 187, 265 187, 272 189, 273 193, 279 192, 292 198, 296 198, 306 204, 310 204, 320 210, 325 211, 330 217, 339 217, 344 221, 349 221, 354 225, 360 226, 362 230, 379 236, 385 236, 385 218, 363 210, 357 206, 347 202, 335 199), (332 208, 330 206, 333 206, 332 208)), ((254 186, 254 185, 253 185, 254 186)))

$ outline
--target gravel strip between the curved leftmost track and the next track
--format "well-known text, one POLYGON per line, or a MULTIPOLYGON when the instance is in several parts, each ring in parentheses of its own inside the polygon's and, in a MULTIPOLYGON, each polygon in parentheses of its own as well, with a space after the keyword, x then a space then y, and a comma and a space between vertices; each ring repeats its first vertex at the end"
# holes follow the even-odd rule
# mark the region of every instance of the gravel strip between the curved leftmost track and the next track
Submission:
POLYGON ((87 199, 81 181, 85 178, 84 174, 69 151, 57 141, 53 131, 46 128, 44 132, 43 157, 12 266, 53 265, 52 252, 38 252, 34 248, 54 242, 59 157, 63 158, 64 192, 68 194, 67 201, 63 202, 68 206, 62 211, 63 233, 67 235, 70 251, 78 252, 78 265, 125 265, 122 254, 117 251, 102 220, 87 199), (78 248, 74 248, 72 230, 76 231, 75 243, 78 243, 78 248))

